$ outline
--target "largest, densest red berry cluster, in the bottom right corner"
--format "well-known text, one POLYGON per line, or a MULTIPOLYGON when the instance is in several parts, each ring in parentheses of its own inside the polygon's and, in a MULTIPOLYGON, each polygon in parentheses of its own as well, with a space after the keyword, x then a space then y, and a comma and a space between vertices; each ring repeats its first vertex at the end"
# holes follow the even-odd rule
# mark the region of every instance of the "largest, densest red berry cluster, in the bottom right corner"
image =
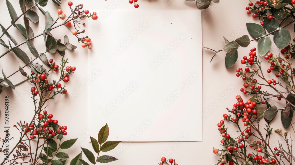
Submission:
MULTIPOLYGON (((257 110, 256 110, 256 106, 258 103, 258 100, 247 100, 247 102, 243 102, 243 99, 241 98, 240 95, 236 96, 237 99, 237 103, 235 103, 233 105, 233 108, 231 110, 229 110, 229 112, 231 112, 233 114, 232 115, 227 115, 227 114, 223 114, 223 118, 224 120, 221 120, 217 126, 219 127, 219 133, 222 136, 222 140, 220 141, 222 143, 222 145, 226 148, 226 150, 218 150, 213 148, 213 153, 217 154, 219 151, 222 152, 229 152, 231 154, 235 154, 236 152, 241 152, 241 151, 246 151, 245 148, 247 146, 249 146, 250 148, 253 148, 256 150, 256 154, 254 155, 254 151, 252 152, 253 154, 248 154, 248 157, 246 160, 252 161, 253 164, 257 163, 257 164, 275 164, 276 163, 276 159, 267 159, 267 158, 263 158, 263 156, 261 156, 260 154, 263 154, 263 149, 264 144, 261 143, 261 141, 249 141, 247 140, 248 138, 250 138, 251 136, 253 136, 253 133, 251 132, 251 128, 253 127, 253 123, 255 121, 257 121, 257 110), (238 125, 239 121, 244 122, 244 128, 239 127, 240 128, 240 135, 238 135, 236 138, 232 138, 230 137, 230 135, 227 133, 227 128, 224 125, 225 121, 230 121, 233 122, 235 124, 238 125), (240 150, 238 151, 238 148, 240 148, 240 150)), ((254 129, 254 128, 253 128, 254 129)), ((257 130, 255 130, 257 131, 257 130)), ((255 136, 255 135, 254 135, 255 136)), ((249 149, 248 149, 249 150, 249 149)), ((247 150, 247 151, 248 151, 247 150)), ((275 151, 277 149, 275 148, 275 151)), ((279 155, 279 153, 277 152, 277 155, 279 155)), ((220 154, 218 155, 220 156, 220 154)), ((234 159, 232 160, 228 160, 228 157, 225 157, 226 154, 222 154, 222 158, 220 159, 219 162, 221 162, 221 164, 234 164, 234 159)), ((234 156, 230 157, 230 158, 234 158, 234 156)))

